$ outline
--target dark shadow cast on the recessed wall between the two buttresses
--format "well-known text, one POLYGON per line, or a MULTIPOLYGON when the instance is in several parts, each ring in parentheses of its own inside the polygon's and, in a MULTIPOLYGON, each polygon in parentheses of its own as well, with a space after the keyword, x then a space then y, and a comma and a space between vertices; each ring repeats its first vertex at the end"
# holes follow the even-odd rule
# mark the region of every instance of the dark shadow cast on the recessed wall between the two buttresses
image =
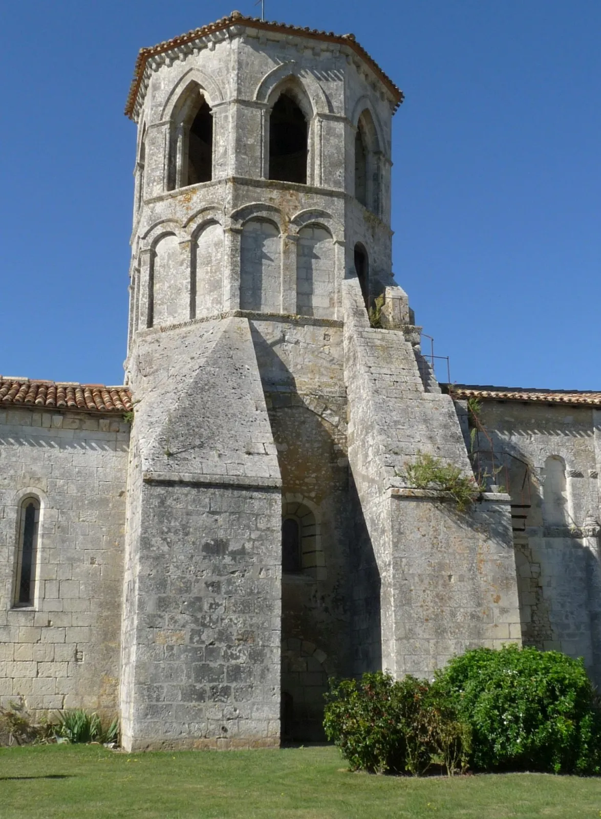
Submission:
POLYGON ((348 468, 337 427, 296 393, 283 336, 251 329, 283 486, 282 741, 320 742, 328 677, 353 672, 348 468))

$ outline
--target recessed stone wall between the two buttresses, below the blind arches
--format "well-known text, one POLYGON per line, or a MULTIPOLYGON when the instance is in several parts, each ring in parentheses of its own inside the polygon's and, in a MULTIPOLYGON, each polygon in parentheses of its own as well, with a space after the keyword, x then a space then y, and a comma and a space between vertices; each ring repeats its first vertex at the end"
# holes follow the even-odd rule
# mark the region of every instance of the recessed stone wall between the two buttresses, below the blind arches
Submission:
POLYGON ((323 740, 328 676, 352 673, 352 554, 340 324, 251 322, 282 474, 282 514, 310 521, 282 576, 282 736, 323 740))

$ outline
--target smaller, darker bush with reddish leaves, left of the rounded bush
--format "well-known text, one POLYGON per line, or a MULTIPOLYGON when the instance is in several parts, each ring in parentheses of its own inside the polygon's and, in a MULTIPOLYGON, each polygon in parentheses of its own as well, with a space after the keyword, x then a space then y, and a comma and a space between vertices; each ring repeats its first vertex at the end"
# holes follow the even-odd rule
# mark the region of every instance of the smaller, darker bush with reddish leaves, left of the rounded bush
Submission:
POLYGON ((425 680, 383 672, 330 681, 323 726, 353 771, 411 773, 432 764, 465 770, 469 728, 425 680))

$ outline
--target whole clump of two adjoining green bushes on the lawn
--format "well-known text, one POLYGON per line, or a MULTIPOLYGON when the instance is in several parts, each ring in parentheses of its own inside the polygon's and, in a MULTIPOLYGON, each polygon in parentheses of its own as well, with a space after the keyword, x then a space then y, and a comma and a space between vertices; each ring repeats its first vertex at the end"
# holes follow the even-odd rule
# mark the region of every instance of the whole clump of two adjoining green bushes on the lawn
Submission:
POLYGON ((434 682, 390 674, 330 681, 326 735, 351 770, 601 772, 601 710, 581 660, 473 649, 434 682))

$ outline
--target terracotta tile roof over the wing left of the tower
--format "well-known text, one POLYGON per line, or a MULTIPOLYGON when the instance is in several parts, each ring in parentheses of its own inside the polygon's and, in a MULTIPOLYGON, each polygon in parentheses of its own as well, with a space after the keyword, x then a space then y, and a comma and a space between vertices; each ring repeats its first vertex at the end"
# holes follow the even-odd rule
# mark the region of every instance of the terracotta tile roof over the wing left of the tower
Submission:
POLYGON ((132 396, 128 387, 30 381, 0 375, 0 407, 7 406, 122 414, 132 409, 132 396))

